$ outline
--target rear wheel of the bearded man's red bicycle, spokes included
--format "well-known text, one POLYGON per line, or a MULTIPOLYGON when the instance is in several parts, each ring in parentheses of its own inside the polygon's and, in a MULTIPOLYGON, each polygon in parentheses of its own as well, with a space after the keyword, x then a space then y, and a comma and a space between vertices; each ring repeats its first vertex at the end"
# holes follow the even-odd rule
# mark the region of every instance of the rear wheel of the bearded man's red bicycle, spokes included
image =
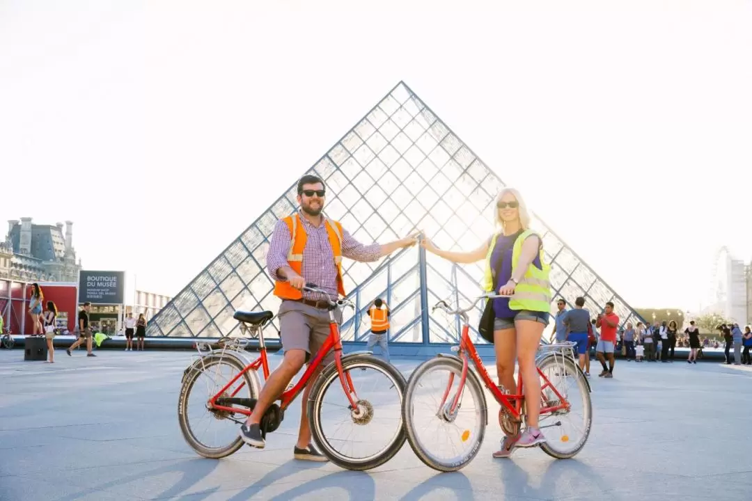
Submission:
MULTIPOLYGON (((217 411, 208 408, 208 400, 214 397, 232 378, 244 369, 243 364, 235 358, 208 355, 202 359, 203 363, 195 364, 183 379, 180 388, 180 398, 177 402, 177 421, 180 431, 194 451, 203 457, 219 459, 238 451, 243 446, 243 440, 238 435, 238 422, 245 416, 236 412, 217 411), (206 382, 199 380, 205 376, 206 382), (201 392, 206 389, 205 393, 201 392), (191 397, 193 406, 189 409, 191 397), (206 430, 214 425, 214 433, 208 433, 207 438, 199 438, 198 430, 206 430), (217 436, 223 435, 223 438, 217 436), (214 439, 211 435, 214 435, 214 439), (211 441, 211 442, 210 442, 211 441)), ((244 373, 234 385, 227 389, 229 396, 241 387, 235 397, 257 398, 256 386, 253 385, 249 373, 244 373)))

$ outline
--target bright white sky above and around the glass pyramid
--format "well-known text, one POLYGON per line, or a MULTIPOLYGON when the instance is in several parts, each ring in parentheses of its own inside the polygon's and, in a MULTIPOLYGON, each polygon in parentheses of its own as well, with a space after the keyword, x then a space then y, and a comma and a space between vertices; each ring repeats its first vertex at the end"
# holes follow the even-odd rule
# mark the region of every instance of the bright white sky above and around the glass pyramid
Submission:
POLYGON ((0 2, 0 218, 177 294, 405 80, 632 306, 752 258, 752 3, 315 3, 0 2))

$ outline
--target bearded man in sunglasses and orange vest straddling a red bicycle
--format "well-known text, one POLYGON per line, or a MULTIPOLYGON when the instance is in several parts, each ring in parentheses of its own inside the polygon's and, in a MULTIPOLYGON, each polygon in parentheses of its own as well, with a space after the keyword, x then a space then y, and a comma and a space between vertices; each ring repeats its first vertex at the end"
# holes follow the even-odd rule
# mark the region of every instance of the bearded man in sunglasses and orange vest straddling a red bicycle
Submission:
MULTIPOLYGON (((284 359, 269 375, 253 413, 241 426, 241 439, 252 447, 264 448, 259 426, 264 412, 329 336, 329 303, 323 294, 302 291, 304 285, 312 282, 333 296, 344 296, 343 257, 361 262, 378 261, 384 255, 416 243, 417 234, 384 245, 359 243, 338 221, 322 215, 325 197, 326 188, 320 178, 303 176, 298 182, 300 210, 280 219, 271 235, 266 267, 274 280, 274 295, 282 300, 278 316, 284 359)), ((303 392, 298 442, 293 449, 296 459, 326 461, 311 444, 307 404, 311 382, 333 359, 334 353, 329 352, 303 392)))

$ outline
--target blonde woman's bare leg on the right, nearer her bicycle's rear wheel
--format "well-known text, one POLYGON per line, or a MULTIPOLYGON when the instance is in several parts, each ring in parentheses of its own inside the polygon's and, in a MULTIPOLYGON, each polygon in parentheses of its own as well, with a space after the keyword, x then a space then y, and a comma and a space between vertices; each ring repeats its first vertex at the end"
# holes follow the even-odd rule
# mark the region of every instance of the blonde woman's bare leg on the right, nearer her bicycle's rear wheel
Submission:
POLYGON ((535 353, 541 344, 544 324, 534 320, 517 320, 517 361, 520 364, 520 376, 525 394, 528 427, 538 428, 538 416, 541 413, 541 379, 535 367, 535 353))

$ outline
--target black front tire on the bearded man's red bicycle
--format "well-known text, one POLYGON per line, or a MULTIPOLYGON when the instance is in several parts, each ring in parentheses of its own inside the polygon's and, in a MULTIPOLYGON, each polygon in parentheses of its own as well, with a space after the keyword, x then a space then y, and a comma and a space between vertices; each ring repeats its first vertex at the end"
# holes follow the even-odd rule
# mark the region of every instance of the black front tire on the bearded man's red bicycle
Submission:
MULTIPOLYGON (((399 370, 387 362, 376 358, 373 355, 356 355, 342 359, 342 370, 350 370, 351 367, 371 367, 381 370, 387 377, 393 382, 399 391, 400 408, 402 408, 402 400, 405 398, 405 376, 399 370)), ((366 458, 353 458, 346 457, 335 451, 326 440, 323 429, 321 426, 321 404, 323 395, 330 385, 335 384, 339 386, 338 391, 342 391, 341 385, 338 382, 337 364, 332 362, 321 373, 316 380, 314 387, 311 388, 311 396, 308 399, 308 421, 311 425, 311 437, 324 455, 337 466, 344 469, 362 471, 365 469, 372 469, 377 466, 381 466, 388 460, 392 459, 395 454, 399 452, 402 445, 405 444, 405 422, 402 421, 399 426, 399 433, 396 433, 393 441, 384 448, 378 454, 374 454, 371 457, 366 458)), ((335 387, 336 388, 336 387, 335 387)))

